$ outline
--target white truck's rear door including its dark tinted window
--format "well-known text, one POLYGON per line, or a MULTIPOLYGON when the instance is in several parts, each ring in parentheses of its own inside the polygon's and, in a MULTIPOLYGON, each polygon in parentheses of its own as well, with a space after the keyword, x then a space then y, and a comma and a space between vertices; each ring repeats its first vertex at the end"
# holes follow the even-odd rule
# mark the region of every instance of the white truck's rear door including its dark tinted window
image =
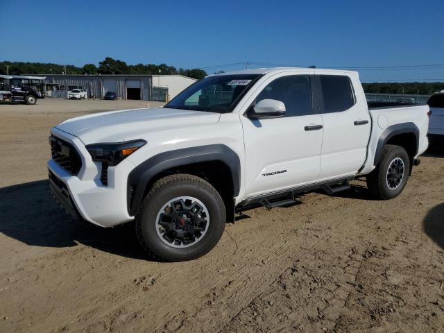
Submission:
POLYGON ((316 94, 323 119, 320 179, 356 173, 364 164, 370 137, 366 100, 357 98, 353 75, 316 75, 316 94))

